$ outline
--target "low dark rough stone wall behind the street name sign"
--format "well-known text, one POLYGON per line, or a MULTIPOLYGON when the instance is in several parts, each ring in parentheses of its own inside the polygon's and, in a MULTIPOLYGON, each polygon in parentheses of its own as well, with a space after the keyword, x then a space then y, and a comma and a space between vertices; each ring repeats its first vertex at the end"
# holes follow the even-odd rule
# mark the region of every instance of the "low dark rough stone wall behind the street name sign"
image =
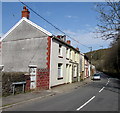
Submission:
MULTIPOLYGON (((2 96, 11 95, 12 92, 12 83, 13 82, 22 82, 29 79, 29 76, 26 76, 23 72, 3 72, 2 73, 2 96)), ((15 88, 15 93, 22 92, 22 85, 17 85, 15 88)))

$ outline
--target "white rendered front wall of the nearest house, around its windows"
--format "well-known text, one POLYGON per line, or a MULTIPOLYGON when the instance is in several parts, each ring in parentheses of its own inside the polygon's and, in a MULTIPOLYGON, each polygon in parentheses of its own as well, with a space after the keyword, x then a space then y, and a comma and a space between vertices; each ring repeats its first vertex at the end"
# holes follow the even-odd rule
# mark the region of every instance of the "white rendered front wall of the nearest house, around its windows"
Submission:
MULTIPOLYGON (((62 44, 61 44, 62 45, 62 44)), ((50 87, 51 86, 56 86, 60 84, 64 84, 69 80, 66 75, 66 64, 69 64, 69 60, 66 59, 66 46, 62 45, 62 57, 59 57, 59 42, 52 40, 51 44, 51 58, 50 58, 50 87), (63 74, 63 79, 58 80, 58 63, 62 63, 62 74, 63 74)), ((69 71, 68 71, 69 73, 69 71)))

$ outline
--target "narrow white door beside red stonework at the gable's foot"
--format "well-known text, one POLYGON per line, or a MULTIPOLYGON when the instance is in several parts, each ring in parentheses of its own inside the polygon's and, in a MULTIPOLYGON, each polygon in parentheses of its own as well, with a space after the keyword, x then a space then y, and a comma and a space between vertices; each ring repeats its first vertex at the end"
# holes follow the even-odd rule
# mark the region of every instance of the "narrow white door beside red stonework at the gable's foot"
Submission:
POLYGON ((36 67, 30 67, 30 89, 36 88, 36 67))

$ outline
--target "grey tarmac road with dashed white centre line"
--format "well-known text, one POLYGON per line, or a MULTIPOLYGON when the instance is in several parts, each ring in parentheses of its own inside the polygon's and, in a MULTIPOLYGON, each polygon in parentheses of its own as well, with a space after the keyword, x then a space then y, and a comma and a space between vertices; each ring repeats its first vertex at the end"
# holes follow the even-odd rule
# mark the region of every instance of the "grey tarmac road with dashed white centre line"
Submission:
POLYGON ((101 80, 4 111, 118 111, 119 95, 120 80, 101 74, 101 80))

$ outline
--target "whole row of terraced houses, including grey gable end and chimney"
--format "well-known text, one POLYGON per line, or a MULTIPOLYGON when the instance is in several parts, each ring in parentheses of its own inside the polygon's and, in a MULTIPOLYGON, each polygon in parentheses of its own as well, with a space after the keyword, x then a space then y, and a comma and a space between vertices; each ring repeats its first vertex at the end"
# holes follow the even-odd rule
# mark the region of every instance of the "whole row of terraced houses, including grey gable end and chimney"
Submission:
POLYGON ((79 82, 91 74, 88 58, 64 35, 54 36, 29 20, 24 6, 21 20, 1 39, 4 72, 30 75, 30 89, 79 82))

